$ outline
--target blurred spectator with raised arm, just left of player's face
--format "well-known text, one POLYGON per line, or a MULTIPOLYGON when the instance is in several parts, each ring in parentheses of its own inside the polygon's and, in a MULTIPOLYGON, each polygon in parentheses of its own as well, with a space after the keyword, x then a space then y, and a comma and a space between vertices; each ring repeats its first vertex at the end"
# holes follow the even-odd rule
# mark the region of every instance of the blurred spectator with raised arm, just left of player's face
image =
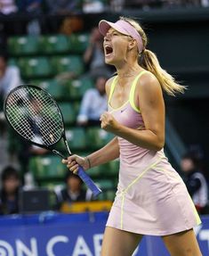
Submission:
POLYGON ((84 63, 88 76, 92 78, 101 74, 105 74, 107 77, 111 75, 111 71, 104 61, 103 37, 98 28, 92 29, 89 45, 84 52, 84 63))

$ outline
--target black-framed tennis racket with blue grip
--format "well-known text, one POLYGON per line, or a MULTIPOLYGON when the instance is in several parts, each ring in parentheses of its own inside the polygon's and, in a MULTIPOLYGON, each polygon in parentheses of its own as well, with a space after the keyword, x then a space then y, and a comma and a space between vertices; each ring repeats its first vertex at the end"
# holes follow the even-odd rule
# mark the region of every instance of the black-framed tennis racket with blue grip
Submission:
MULTIPOLYGON (((22 85, 12 89, 4 101, 4 114, 12 128, 29 143, 67 159, 56 149, 56 144, 63 139, 68 154, 72 154, 60 108, 52 96, 40 87, 22 85)), ((81 166, 78 167, 77 175, 92 190, 94 196, 100 194, 100 188, 81 166)))

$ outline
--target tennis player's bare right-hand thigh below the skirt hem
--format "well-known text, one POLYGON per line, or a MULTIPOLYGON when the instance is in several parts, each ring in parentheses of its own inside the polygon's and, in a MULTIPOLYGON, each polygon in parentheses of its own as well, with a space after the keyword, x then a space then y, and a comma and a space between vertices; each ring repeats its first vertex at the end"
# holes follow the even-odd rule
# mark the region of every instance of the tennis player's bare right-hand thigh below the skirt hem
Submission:
POLYGON ((202 256, 193 229, 162 238, 171 256, 202 256))

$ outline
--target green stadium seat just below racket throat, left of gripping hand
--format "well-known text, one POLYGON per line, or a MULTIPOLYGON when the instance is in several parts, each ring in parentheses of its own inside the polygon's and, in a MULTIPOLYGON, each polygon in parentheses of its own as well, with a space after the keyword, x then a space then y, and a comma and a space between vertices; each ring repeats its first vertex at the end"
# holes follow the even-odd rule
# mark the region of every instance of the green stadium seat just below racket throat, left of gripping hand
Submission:
POLYGON ((31 157, 29 169, 36 179, 64 178, 67 170, 56 155, 31 157))

